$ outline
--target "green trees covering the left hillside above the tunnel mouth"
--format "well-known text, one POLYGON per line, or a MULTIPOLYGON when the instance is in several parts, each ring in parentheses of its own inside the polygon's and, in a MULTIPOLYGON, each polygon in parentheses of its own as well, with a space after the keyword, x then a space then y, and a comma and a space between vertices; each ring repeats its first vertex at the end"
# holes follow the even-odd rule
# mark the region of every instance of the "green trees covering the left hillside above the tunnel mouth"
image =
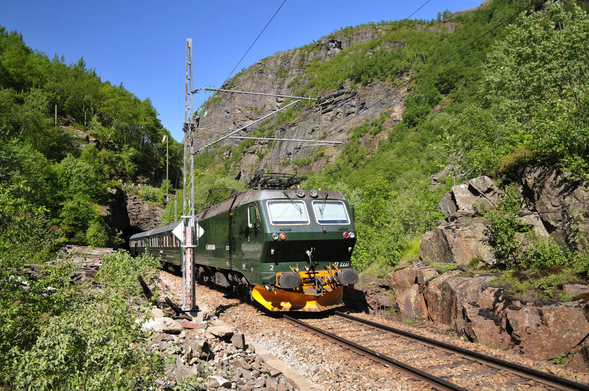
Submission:
MULTIPOLYGON (((57 55, 49 59, 0 26, 0 189, 47 227, 47 240, 17 230, 23 240, 37 237, 49 247, 56 240, 114 244, 118 233, 104 221, 107 187, 161 180, 164 135, 169 132, 149 99, 101 81, 84 59, 70 65, 57 55)), ((181 145, 170 141, 170 165, 179 167, 181 145)), ((177 171, 170 174, 177 184, 177 171)), ((2 208, 0 218, 16 218, 11 213, 2 208)), ((44 248, 31 256, 44 256, 44 248)), ((5 256, 14 254, 0 253, 5 256)))

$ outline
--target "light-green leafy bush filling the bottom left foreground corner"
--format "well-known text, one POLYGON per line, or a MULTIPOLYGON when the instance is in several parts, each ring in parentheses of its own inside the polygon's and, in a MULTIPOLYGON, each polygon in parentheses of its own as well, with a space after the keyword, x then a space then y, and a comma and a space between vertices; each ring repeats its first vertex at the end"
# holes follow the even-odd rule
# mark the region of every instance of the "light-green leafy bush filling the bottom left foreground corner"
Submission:
POLYGON ((153 383, 163 359, 148 351, 134 310, 116 294, 101 299, 45 322, 35 343, 3 374, 14 377, 4 380, 34 390, 131 390, 153 383))

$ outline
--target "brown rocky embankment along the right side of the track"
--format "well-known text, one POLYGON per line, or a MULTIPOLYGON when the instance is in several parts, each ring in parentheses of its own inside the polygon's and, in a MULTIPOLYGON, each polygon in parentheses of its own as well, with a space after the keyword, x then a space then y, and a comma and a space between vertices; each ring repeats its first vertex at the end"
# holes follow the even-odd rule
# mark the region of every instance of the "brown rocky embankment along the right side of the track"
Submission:
MULTIPOLYGON (((544 167, 528 168, 516 185, 523 200, 517 217, 522 224, 540 237, 553 237, 562 247, 587 250, 583 246, 589 233, 589 219, 584 217, 589 187, 544 167), (579 233, 585 240, 578 240, 579 233)), ((494 270, 491 247, 484 242, 488 224, 479 212, 481 205, 494 208, 500 193, 491 178, 479 177, 445 194, 439 206, 446 219, 422 236, 420 260, 381 281, 394 292, 390 304, 405 319, 427 320, 472 341, 538 360, 560 359, 570 369, 587 371, 587 281, 557 286, 572 297, 570 302, 547 297, 524 300, 497 283, 500 273, 477 271, 481 266, 494 270)), ((368 301, 374 307, 389 304, 387 299, 386 293, 378 293, 368 301)))

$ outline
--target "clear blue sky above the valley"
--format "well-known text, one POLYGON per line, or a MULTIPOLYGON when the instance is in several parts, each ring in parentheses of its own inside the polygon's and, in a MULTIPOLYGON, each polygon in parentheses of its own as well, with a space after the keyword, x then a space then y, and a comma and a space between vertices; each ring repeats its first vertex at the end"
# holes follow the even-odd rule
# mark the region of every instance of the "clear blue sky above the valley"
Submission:
MULTIPOLYGON (((340 27, 403 19, 425 0, 287 0, 236 69, 274 52, 312 42, 340 27)), ((431 0, 413 18, 435 18, 480 0, 431 0)), ((186 38, 193 38, 194 87, 219 87, 282 0, 259 1, 8 1, 0 25, 24 35, 29 47, 67 62, 84 57, 102 80, 151 98, 163 125, 181 140, 186 38)), ((272 92, 272 91, 264 91, 272 92)), ((195 95, 195 109, 206 98, 195 95)))

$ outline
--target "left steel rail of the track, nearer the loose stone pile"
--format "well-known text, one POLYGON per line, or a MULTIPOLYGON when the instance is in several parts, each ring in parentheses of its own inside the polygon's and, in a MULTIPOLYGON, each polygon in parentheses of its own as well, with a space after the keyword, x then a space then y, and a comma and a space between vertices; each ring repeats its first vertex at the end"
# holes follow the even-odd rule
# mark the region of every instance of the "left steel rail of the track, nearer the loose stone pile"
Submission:
POLYGON ((402 362, 395 360, 389 356, 385 356, 385 354, 375 352, 372 349, 368 349, 368 347, 359 345, 355 342, 352 342, 350 340, 347 340, 345 338, 337 336, 336 334, 332 334, 332 333, 326 332, 325 330, 319 329, 315 326, 311 326, 309 323, 305 323, 302 320, 295 319, 295 318, 290 317, 288 315, 284 315, 283 319, 286 319, 287 322, 293 323, 296 326, 302 327, 303 329, 309 330, 310 332, 317 334, 318 336, 327 337, 330 340, 332 340, 333 342, 336 342, 337 344, 339 344, 340 346, 345 347, 346 349, 350 349, 353 352, 362 354, 363 356, 366 356, 375 362, 382 363, 385 366, 392 365, 396 369, 399 369, 402 372, 407 373, 409 376, 413 377, 414 379, 422 380, 424 382, 429 383, 436 390, 440 390, 440 391, 468 391, 467 389, 465 389, 461 386, 455 385, 454 383, 450 383, 447 380, 442 379, 441 377, 437 377, 437 376, 431 375, 427 372, 423 372, 421 369, 417 369, 416 367, 412 367, 411 365, 407 365, 405 363, 402 363, 402 362))

